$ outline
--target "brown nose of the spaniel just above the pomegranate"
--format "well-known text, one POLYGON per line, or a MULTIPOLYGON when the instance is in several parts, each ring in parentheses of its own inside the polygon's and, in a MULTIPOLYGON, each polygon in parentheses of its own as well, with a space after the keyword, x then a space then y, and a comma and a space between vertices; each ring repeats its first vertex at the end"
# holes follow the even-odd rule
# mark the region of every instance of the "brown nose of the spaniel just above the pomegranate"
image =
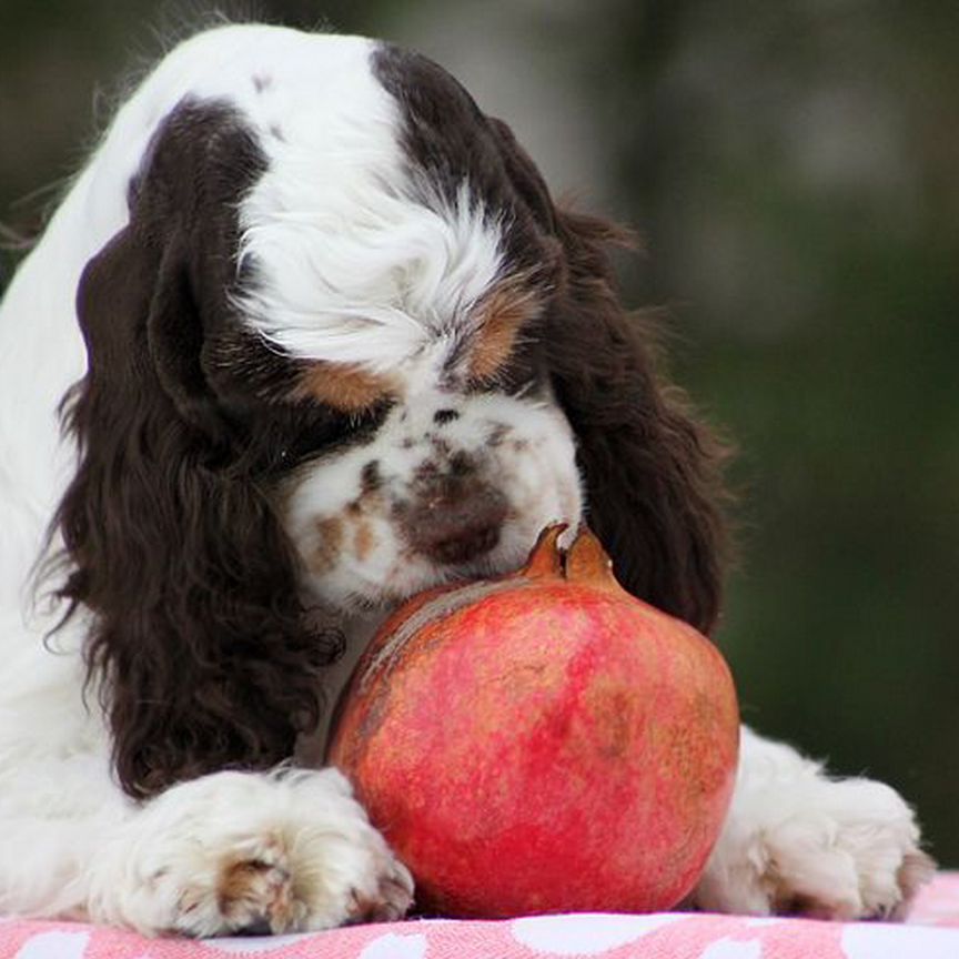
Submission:
POLYGON ((467 563, 499 542, 506 497, 471 477, 437 476, 420 485, 404 517, 406 538, 436 563, 467 563))

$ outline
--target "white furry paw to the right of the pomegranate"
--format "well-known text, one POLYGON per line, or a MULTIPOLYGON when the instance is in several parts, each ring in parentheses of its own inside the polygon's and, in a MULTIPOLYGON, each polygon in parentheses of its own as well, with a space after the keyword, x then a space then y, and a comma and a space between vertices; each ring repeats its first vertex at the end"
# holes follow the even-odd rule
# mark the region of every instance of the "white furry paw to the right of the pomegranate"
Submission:
POLYGON ((901 919, 933 872, 912 810, 869 779, 744 730, 733 808, 693 904, 724 912, 901 919))

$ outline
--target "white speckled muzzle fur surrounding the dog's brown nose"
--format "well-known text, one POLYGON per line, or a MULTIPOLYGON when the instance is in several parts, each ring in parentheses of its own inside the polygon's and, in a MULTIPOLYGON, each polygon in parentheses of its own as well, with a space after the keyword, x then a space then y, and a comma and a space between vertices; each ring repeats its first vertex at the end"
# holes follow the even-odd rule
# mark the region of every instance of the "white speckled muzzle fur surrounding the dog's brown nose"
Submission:
POLYGON ((357 604, 383 607, 454 576, 516 568, 544 526, 565 521, 575 528, 582 496, 569 425, 552 403, 427 391, 397 404, 369 444, 312 463, 297 476, 287 509, 287 528, 312 573, 307 585, 325 603, 350 610, 357 604), (458 418, 437 427, 437 410, 453 410, 458 418), (445 445, 444 456, 471 455, 480 480, 508 499, 509 521, 496 547, 466 566, 443 566, 411 551, 392 518, 396 504, 412 498, 416 471, 436 456, 437 444, 445 445), (362 512, 351 514, 361 471, 371 461, 380 466, 382 484, 362 512), (331 518, 343 523, 344 543, 335 564, 317 571, 317 521, 331 518), (369 555, 363 535, 375 543, 369 555))

